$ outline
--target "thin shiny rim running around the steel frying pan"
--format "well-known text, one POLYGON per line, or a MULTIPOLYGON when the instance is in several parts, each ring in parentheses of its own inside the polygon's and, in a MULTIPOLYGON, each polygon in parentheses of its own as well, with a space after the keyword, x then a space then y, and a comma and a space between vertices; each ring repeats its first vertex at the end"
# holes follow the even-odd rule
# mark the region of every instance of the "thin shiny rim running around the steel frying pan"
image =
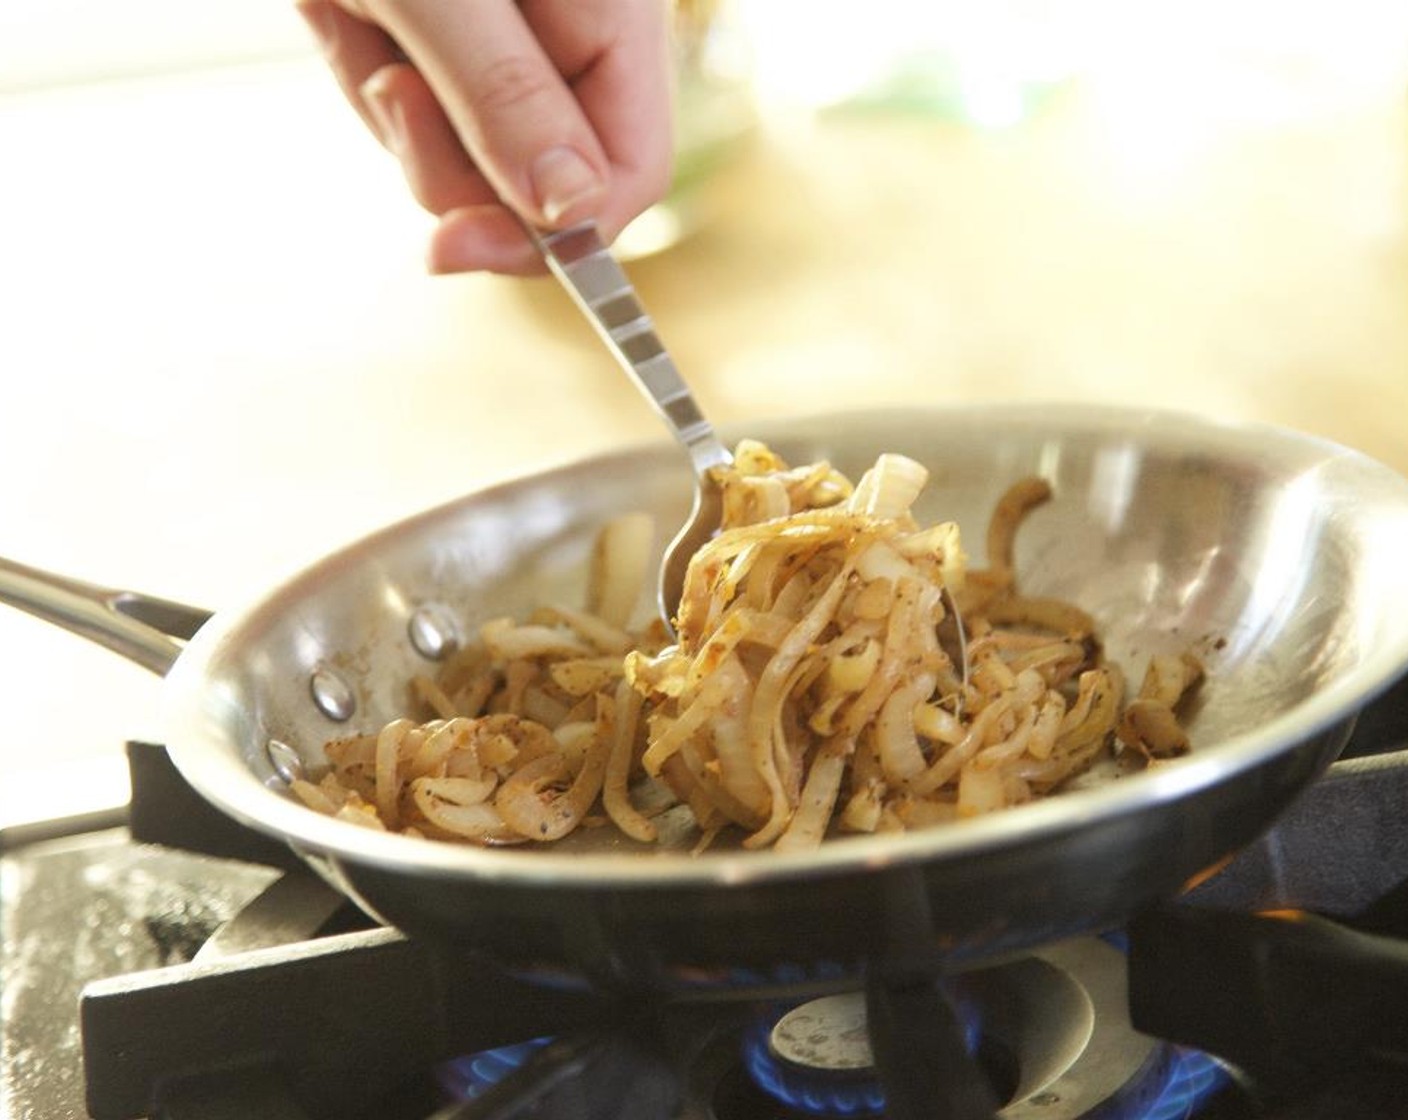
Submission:
MULTIPOLYGON (((755 421, 766 435, 786 433, 797 425, 815 424, 826 417, 883 424, 904 417, 912 421, 915 409, 874 409, 835 413, 818 410, 769 421, 755 421)), ((950 421, 964 417, 998 416, 1008 424, 1045 423, 1069 430, 1077 425, 1093 431, 1132 434, 1150 425, 1166 431, 1218 434, 1239 447, 1256 440, 1271 440, 1287 449, 1316 454, 1325 461, 1352 462, 1366 476, 1394 486, 1408 510, 1408 479, 1384 463, 1332 440, 1263 421, 1211 418, 1190 411, 1167 409, 1094 406, 1057 403, 1019 404, 948 404, 925 406, 922 411, 942 414, 950 421)), ((734 425, 738 427, 738 425, 734 425)), ((1347 723, 1378 692, 1387 689, 1408 669, 1408 627, 1385 640, 1381 648, 1353 666, 1342 678, 1305 697, 1300 704, 1269 720, 1253 731, 1233 735, 1214 747, 1194 751, 1176 765, 1133 773, 1097 788, 1067 790, 1001 813, 986 814, 952 826, 938 826, 912 833, 886 835, 846 835, 828 840, 807 852, 705 851, 690 855, 680 851, 650 850, 641 845, 614 852, 553 851, 543 847, 480 848, 436 840, 422 840, 393 833, 377 833, 338 821, 306 809, 280 789, 272 789, 239 759, 201 747, 201 734, 193 733, 208 723, 196 696, 207 666, 218 661, 238 637, 252 610, 290 585, 321 571, 348 554, 370 547, 376 540, 397 533, 421 518, 434 518, 477 496, 520 486, 529 479, 545 479, 580 469, 584 463, 631 459, 648 452, 659 454, 669 444, 642 441, 601 455, 582 456, 556 466, 534 471, 483 487, 422 513, 386 525, 344 548, 315 561, 287 580, 280 580, 246 609, 217 611, 191 640, 168 675, 163 692, 163 727, 173 762, 197 792, 231 817, 258 831, 286 840, 296 848, 334 861, 375 866, 407 876, 435 876, 465 882, 522 883, 543 886, 583 883, 608 889, 652 889, 743 886, 777 881, 821 879, 836 875, 866 873, 881 868, 908 866, 973 857, 1042 842, 1097 821, 1148 811, 1212 788, 1235 775, 1283 754, 1297 744, 1326 734, 1347 723), (234 775, 235 780, 231 780, 234 775)), ((683 463, 681 463, 683 469, 683 463)))

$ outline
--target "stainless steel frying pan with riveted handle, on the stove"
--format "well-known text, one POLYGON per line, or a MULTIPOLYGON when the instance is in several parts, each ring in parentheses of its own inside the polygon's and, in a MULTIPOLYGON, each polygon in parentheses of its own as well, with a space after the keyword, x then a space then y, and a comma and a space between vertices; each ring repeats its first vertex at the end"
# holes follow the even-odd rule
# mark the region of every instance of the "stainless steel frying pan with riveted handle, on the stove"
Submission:
MULTIPOLYGON (((877 961, 960 966, 1111 927, 1266 830, 1408 668, 1408 480, 1266 427, 1091 407, 910 409, 758 424, 793 462, 857 476, 876 454, 925 462, 918 513, 956 518, 974 564, 1001 490, 1041 473, 1056 499, 1018 537, 1032 593, 1076 600, 1138 679, 1198 647, 1195 751, 1122 780, 952 827, 843 838, 814 854, 691 857, 582 830, 482 850, 358 828, 284 790, 329 737, 401 714, 406 682, 456 634, 580 603, 593 535, 648 510, 662 538, 690 475, 659 445, 470 494, 359 541, 242 610, 191 621, 127 595, 114 609, 34 572, 0 599, 165 671, 165 735, 190 783, 286 840, 376 919, 538 973, 672 990, 841 985, 877 961), (56 606, 58 603, 58 606, 56 606)), ((645 589, 642 589, 645 590, 645 589)), ((642 611, 650 609, 642 595, 642 611)))

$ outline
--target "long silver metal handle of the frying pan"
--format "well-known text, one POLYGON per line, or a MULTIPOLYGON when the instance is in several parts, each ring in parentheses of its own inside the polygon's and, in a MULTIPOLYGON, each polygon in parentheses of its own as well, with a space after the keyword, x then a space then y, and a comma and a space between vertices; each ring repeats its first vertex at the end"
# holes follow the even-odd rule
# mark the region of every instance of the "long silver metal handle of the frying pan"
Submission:
POLYGON ((0 556, 0 603, 104 645, 165 676, 210 611, 103 587, 0 556))

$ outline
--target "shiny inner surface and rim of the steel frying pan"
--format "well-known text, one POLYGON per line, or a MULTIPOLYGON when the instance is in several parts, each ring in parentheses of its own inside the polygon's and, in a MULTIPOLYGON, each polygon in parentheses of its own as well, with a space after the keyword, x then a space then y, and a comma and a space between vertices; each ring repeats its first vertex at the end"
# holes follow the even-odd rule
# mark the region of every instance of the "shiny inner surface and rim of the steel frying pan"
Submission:
MULTIPOLYGON (((618 513, 650 513, 663 547, 690 478, 677 448, 650 445, 469 494, 218 614, 168 679, 173 759, 218 807, 311 852, 486 881, 727 883, 962 858, 1138 813, 1347 718, 1408 666, 1408 482, 1333 444, 1181 414, 1045 406, 800 417, 725 435, 760 438, 794 465, 826 459, 852 479, 881 452, 918 459, 931 480, 917 517, 957 521, 974 568, 998 496, 1026 475, 1046 478, 1055 496, 1017 538, 1021 587, 1090 611, 1131 686, 1150 655, 1195 651, 1207 679, 1187 718, 1193 754, 956 826, 828 841, 810 855, 690 857, 611 828, 579 830, 551 848, 483 850, 379 834, 287 796, 270 742, 315 769, 327 740, 407 714, 407 682, 435 668, 413 640, 418 611, 469 635, 543 603, 582 606, 594 535, 618 513), (351 718, 320 710, 315 678, 346 687, 351 718)), ((650 590, 642 587, 642 620, 650 590)))

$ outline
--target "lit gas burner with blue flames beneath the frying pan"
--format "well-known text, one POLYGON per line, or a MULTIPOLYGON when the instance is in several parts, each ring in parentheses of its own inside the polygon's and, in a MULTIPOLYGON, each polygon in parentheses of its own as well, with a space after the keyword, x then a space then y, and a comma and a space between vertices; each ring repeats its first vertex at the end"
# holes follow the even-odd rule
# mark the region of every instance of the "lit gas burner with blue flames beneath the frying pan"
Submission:
MULTIPOLYGON (((1005 1102, 1002 1120, 1186 1120, 1228 1083, 1212 1058, 1139 1034, 1125 1010, 1125 959, 1070 941, 956 978, 946 995, 973 1059, 1005 1102)), ((884 1116, 865 999, 841 993, 738 1014, 689 1009, 697 1057, 679 1120, 860 1120, 884 1116)), ((446 1064, 473 1099, 546 1040, 446 1064)))

